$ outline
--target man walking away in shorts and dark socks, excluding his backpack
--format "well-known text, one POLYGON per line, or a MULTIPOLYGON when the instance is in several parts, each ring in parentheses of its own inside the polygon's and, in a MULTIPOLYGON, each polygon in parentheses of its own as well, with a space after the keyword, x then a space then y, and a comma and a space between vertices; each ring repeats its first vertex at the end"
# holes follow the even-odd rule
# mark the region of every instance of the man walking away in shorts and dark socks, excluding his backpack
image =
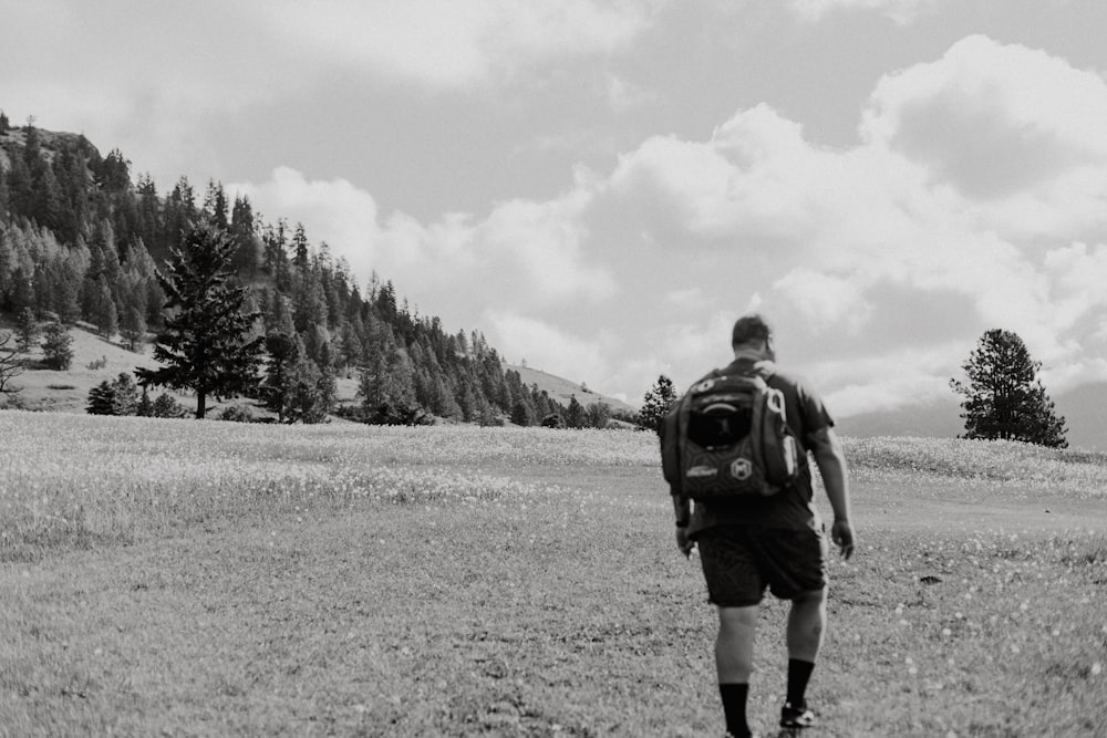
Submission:
POLYGON ((757 372, 784 394, 787 423, 798 445, 796 481, 770 497, 696 502, 672 489, 676 545, 693 547, 718 609, 715 665, 728 736, 751 736, 746 698, 753 671, 754 636, 765 590, 792 602, 787 624, 788 686, 780 726, 806 728, 815 714, 806 701, 807 684, 826 628, 827 555, 824 527, 813 505, 811 451, 834 510, 830 536, 846 559, 853 553, 846 458, 834 420, 803 378, 779 371, 773 332, 761 315, 739 318, 732 333, 734 362, 727 371, 757 372))

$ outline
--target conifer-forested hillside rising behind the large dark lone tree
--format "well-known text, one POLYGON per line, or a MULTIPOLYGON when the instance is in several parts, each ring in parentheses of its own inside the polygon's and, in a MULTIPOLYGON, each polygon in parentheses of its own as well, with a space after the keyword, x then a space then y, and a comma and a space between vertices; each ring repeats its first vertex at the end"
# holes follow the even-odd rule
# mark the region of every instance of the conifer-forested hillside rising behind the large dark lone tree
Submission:
POLYGON ((260 222, 247 198, 228 201, 219 183, 200 195, 182 177, 163 195, 148 175, 132 177, 118 149, 102 156, 84 136, 11 127, 2 114, 0 152, 0 312, 9 316, 31 309, 40 321, 82 320, 108 337, 147 336, 163 321, 157 269, 189 224, 206 219, 234 240, 237 278, 263 316, 256 330, 283 334, 320 386, 358 378, 361 419, 385 408, 377 420, 588 422, 587 408, 525 386, 479 333, 416 314, 376 276, 363 291, 302 226, 260 222))

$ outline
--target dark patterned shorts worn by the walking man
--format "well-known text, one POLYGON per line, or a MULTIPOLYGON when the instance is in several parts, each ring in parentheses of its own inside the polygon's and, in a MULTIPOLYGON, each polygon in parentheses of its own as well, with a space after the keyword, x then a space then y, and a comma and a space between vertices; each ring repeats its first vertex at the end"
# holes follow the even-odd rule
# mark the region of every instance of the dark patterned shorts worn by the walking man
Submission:
POLYGON ((696 537, 708 602, 745 607, 765 590, 780 600, 827 585, 826 536, 820 530, 747 526, 711 528, 696 537))

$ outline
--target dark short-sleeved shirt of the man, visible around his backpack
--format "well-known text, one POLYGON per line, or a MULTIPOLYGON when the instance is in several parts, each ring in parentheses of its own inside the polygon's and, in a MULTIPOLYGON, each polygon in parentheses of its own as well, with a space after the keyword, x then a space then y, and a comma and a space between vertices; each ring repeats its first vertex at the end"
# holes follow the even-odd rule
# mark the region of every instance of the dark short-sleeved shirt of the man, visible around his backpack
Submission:
POLYGON ((726 501, 693 502, 689 534, 715 526, 744 524, 785 530, 819 529, 821 522, 813 502, 811 470, 807 449, 814 433, 834 426, 823 399, 803 377, 782 372, 773 362, 739 357, 726 368, 748 373, 758 365, 768 374, 767 384, 784 394, 788 427, 796 437, 800 459, 799 476, 790 486, 772 497, 749 497, 726 501))

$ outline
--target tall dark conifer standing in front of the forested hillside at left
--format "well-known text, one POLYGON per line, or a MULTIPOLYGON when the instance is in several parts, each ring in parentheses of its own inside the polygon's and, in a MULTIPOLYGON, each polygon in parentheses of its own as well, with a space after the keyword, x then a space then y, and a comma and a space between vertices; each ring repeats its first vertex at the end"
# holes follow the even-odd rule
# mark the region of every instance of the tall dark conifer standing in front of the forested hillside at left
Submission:
POLYGON ((196 417, 207 397, 235 397, 257 382, 263 337, 255 335, 260 316, 246 312, 247 289, 231 283, 235 242, 210 224, 193 226, 183 248, 174 249, 158 271, 165 291, 165 321, 155 337, 156 370, 138 367, 143 387, 163 386, 196 393, 196 417))

